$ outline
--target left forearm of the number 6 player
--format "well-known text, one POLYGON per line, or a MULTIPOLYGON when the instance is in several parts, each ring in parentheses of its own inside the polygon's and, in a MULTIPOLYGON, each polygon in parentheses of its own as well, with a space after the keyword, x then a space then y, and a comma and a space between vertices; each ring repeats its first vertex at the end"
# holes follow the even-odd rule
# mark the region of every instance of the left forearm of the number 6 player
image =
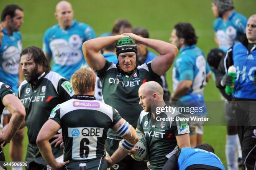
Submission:
POLYGON ((55 165, 56 165, 56 160, 54 158, 54 155, 52 153, 51 150, 51 145, 48 139, 37 139, 36 140, 36 145, 38 146, 41 155, 44 157, 44 160, 46 161, 46 163, 52 167, 53 169, 55 169, 55 165))

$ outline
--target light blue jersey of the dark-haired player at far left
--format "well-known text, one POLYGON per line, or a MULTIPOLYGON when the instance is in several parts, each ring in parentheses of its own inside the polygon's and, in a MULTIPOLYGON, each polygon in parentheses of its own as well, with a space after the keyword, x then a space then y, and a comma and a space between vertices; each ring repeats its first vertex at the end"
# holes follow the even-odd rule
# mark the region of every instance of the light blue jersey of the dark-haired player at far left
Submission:
POLYGON ((0 81, 11 86, 15 93, 18 92, 18 73, 20 66, 20 53, 22 50, 20 32, 8 35, 3 29, 4 36, 0 46, 0 81))

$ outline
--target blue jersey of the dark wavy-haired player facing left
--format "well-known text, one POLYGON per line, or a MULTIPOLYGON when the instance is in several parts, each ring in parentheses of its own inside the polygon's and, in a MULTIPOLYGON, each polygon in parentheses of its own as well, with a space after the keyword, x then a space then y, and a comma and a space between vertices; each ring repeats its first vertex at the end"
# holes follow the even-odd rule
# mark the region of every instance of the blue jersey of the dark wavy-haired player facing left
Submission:
POLYGON ((203 90, 206 85, 206 76, 210 72, 210 66, 205 61, 205 56, 195 45, 186 46, 180 49, 179 56, 174 61, 172 71, 173 91, 182 80, 191 80, 193 82, 189 92, 182 96, 180 101, 202 101, 203 90))

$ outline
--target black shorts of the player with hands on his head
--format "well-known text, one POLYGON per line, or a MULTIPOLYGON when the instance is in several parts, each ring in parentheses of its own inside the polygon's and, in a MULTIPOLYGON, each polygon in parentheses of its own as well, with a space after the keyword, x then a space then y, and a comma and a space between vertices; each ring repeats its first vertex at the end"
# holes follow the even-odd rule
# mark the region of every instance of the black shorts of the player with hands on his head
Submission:
MULTIPOLYGON (((111 156, 118 149, 120 140, 107 138, 105 146, 108 154, 111 156)), ((110 170, 145 170, 148 169, 145 161, 137 161, 130 155, 127 155, 123 160, 115 163, 110 170)))

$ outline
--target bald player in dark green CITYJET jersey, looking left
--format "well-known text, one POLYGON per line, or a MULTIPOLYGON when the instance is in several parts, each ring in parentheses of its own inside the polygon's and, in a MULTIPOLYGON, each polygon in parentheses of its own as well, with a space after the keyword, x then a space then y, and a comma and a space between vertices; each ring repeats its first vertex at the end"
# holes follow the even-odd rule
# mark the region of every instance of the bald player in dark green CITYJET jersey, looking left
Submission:
POLYGON ((165 107, 163 88, 155 81, 142 84, 138 90, 139 104, 143 107, 136 131, 145 134, 148 150, 149 169, 161 170, 164 163, 177 148, 190 147, 187 121, 176 121, 184 117, 179 112, 156 113, 156 107, 165 107), (173 121, 162 118, 173 118, 173 121))

